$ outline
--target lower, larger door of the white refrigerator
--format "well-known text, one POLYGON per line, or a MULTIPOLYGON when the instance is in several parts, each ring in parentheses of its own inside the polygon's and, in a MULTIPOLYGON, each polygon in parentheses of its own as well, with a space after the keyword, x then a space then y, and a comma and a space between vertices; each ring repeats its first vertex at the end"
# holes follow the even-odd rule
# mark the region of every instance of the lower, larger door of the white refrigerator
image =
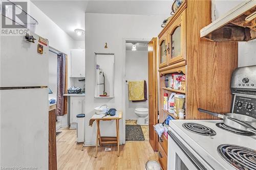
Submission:
POLYGON ((0 90, 1 166, 48 169, 47 88, 0 90))

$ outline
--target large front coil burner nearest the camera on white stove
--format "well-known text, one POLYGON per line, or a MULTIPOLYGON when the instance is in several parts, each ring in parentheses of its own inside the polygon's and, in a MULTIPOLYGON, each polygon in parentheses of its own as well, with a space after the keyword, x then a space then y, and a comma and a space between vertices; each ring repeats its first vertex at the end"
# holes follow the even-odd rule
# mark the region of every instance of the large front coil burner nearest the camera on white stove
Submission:
POLYGON ((230 165, 239 170, 256 169, 256 151, 233 144, 221 144, 218 153, 230 165))

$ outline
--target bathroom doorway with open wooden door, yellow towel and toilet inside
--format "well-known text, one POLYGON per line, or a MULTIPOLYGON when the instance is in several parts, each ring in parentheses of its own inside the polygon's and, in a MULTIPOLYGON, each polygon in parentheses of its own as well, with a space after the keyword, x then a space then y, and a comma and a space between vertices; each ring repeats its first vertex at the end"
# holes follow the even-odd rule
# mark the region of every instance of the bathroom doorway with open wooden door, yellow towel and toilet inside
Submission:
MULTIPOLYGON (((155 41, 157 39, 154 39, 155 41)), ((153 53, 154 41, 125 42, 125 140, 145 140, 151 142, 156 124, 157 96, 156 55, 153 53), (153 95, 154 93, 154 95, 153 95), (156 118, 155 118, 156 117, 156 118), (154 119, 154 121, 153 121, 154 119), (151 126, 149 126, 151 125, 151 126), (152 132, 153 128, 153 132, 152 132)), ((153 143, 156 150, 156 144, 153 143)))

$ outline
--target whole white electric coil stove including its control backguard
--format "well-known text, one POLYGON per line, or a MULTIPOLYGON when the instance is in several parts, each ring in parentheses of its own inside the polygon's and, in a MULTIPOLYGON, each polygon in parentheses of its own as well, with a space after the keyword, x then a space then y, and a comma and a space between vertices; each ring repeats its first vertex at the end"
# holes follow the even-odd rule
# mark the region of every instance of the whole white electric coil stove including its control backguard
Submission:
MULTIPOLYGON (((231 112, 256 118, 256 65, 234 70, 231 112)), ((205 114, 205 113, 202 113, 205 114)), ((223 120, 171 120, 169 170, 256 170, 256 135, 232 129, 223 120)))

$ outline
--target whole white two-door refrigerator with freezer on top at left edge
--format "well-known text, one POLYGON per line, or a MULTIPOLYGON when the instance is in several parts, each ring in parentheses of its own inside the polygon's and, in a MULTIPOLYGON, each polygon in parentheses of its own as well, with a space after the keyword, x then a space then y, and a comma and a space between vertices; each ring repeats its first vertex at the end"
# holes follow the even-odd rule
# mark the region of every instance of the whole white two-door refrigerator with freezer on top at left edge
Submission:
POLYGON ((1 167, 48 169, 49 45, 1 36, 1 167), (37 45, 43 47, 42 54, 37 45))

